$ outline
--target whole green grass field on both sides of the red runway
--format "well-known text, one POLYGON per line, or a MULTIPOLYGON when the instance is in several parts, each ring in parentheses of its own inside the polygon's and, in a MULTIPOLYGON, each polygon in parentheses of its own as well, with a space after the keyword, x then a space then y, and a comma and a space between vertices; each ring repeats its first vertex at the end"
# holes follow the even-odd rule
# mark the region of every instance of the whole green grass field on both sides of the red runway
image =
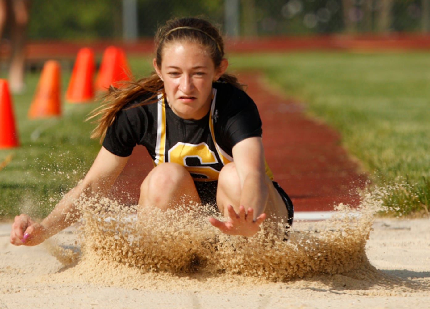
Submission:
MULTIPOLYGON (((430 204, 430 57, 427 53, 271 53, 231 55, 232 71, 261 70, 273 87, 304 102, 307 112, 335 127, 350 154, 378 185, 397 186, 391 210, 410 213, 430 204), (402 185, 398 185, 402 184, 402 185)), ((130 58, 137 76, 147 57, 130 58)), ((70 72, 62 72, 63 93, 70 72)), ((4 77, 4 76, 3 76, 4 77)), ((44 216, 88 170, 100 145, 83 122, 97 106, 64 104, 60 119, 29 120, 39 73, 14 96, 21 147, 0 149, 0 218, 27 211, 44 216)))

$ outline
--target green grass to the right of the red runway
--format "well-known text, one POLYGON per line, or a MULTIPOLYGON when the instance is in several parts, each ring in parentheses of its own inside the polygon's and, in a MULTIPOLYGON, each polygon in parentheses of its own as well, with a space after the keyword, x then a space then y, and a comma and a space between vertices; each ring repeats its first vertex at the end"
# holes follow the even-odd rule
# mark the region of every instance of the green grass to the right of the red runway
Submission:
POLYGON ((385 201, 390 211, 428 209, 428 53, 240 55, 230 64, 263 69, 286 96, 304 102, 312 117, 335 127, 372 182, 395 187, 385 201))

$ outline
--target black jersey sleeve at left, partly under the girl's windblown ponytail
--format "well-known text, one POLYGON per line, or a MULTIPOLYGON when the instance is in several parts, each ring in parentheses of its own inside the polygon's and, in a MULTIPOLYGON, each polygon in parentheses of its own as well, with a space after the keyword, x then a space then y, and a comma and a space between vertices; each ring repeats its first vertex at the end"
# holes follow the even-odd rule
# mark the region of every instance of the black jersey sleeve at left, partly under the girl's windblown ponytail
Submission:
POLYGON ((120 157, 131 155, 138 142, 136 126, 130 122, 128 112, 129 110, 120 110, 117 113, 103 140, 103 147, 120 157))

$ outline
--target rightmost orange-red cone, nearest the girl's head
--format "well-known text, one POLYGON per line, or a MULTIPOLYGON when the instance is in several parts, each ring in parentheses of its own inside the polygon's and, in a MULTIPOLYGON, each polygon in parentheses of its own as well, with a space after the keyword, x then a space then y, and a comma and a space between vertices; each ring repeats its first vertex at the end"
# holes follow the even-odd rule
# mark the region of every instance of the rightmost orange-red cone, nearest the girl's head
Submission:
POLYGON ((121 87, 121 81, 130 80, 130 68, 124 50, 109 46, 104 50, 95 79, 95 90, 106 91, 109 86, 121 87))

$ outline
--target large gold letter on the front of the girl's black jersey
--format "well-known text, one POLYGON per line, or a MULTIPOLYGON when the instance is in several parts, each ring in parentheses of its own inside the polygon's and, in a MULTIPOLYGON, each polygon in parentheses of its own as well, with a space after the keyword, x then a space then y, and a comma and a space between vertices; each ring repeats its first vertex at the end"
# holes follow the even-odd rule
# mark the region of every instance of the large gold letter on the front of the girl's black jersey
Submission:
POLYGON ((213 180, 218 179, 219 171, 209 166, 210 164, 217 164, 218 159, 205 142, 197 145, 183 142, 176 143, 168 151, 168 161, 184 166, 192 174, 203 175, 204 178, 213 180), (199 159, 200 165, 188 166, 187 158, 199 159))

